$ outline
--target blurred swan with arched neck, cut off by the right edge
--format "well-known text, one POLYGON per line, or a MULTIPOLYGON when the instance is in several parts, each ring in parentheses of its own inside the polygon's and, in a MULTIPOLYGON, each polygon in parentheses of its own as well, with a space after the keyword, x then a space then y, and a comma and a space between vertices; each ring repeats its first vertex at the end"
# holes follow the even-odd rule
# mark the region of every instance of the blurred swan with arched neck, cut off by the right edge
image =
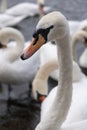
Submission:
MULTIPOLYGON (((72 39, 72 53, 73 53, 73 59, 77 62, 77 51, 76 51, 76 45, 77 41, 81 41, 84 43, 85 46, 87 46, 87 32, 84 30, 77 31, 76 34, 73 36, 72 39)), ((80 58, 79 58, 79 65, 81 68, 87 68, 87 48, 82 52, 80 58)))

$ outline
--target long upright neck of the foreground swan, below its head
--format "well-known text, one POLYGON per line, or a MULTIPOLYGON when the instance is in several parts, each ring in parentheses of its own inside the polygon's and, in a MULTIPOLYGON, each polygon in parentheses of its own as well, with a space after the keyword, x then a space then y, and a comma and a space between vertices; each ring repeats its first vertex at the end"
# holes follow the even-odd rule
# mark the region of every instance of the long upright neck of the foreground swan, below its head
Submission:
MULTIPOLYGON (((52 111, 56 111, 57 130, 61 127, 68 114, 72 99, 72 55, 70 49, 70 39, 67 34, 58 43, 59 60, 59 84, 55 96, 52 111)), ((54 122, 54 124, 55 124, 54 122)))

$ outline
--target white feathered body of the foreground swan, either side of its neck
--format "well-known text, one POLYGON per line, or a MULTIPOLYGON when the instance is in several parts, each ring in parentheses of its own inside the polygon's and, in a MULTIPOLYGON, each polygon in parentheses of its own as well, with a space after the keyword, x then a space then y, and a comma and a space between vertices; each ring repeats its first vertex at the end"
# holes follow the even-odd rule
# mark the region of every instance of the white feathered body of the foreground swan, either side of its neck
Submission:
MULTIPOLYGON (((87 119, 87 112, 85 109, 87 107, 87 103, 85 102, 85 99, 87 97, 86 86, 87 86, 87 79, 84 75, 82 75, 81 79, 78 82, 73 83, 72 102, 66 121, 64 122, 64 125, 73 122, 78 122, 83 119, 87 119)), ((56 93, 57 93, 57 87, 51 90, 50 94, 42 103, 42 112, 41 112, 42 117, 44 116, 44 113, 46 113, 47 109, 49 109, 49 107, 51 107, 51 105, 53 104, 56 93)))

